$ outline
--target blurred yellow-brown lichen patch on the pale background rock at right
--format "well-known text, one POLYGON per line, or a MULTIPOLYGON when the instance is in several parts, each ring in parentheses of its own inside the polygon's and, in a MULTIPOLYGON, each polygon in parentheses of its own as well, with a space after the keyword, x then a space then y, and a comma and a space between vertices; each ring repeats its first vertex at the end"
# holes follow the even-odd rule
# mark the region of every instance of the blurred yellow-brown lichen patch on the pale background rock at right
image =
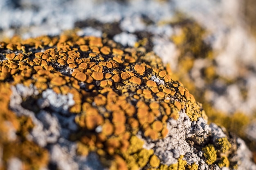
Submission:
MULTIPOLYGON (((176 31, 170 39, 180 51, 177 67, 173 70, 171 75, 172 79, 180 80, 184 86, 188 88, 189 92, 193 93, 195 99, 202 103, 210 123, 214 122, 220 126, 224 126, 227 131, 234 132, 246 141, 252 151, 256 152, 256 143, 247 139, 243 128, 245 125, 248 125, 249 122, 254 121, 255 117, 249 116, 246 113, 232 113, 232 115, 230 113, 224 113, 218 110, 218 108, 213 108, 207 101, 209 94, 212 93, 213 82, 216 82, 217 79, 220 79, 228 86, 229 84, 237 84, 241 76, 228 79, 216 72, 217 65, 214 51, 211 49, 211 46, 204 41, 207 36, 207 30, 199 23, 179 13, 177 20, 171 22, 171 24, 176 27, 178 31, 176 31), (198 82, 195 82, 196 80, 191 74, 194 69, 197 69, 194 67, 197 60, 201 60, 204 63, 201 65, 202 68, 198 70, 204 85, 198 85, 198 82)), ((240 74, 238 75, 242 75, 243 77, 243 75, 247 73, 247 71, 245 71, 247 69, 248 68, 245 67, 241 68, 239 71, 240 74)), ((248 93, 247 89, 240 87, 240 92, 242 94, 241 97, 246 98, 248 93)), ((256 159, 256 157, 254 159, 256 159)))

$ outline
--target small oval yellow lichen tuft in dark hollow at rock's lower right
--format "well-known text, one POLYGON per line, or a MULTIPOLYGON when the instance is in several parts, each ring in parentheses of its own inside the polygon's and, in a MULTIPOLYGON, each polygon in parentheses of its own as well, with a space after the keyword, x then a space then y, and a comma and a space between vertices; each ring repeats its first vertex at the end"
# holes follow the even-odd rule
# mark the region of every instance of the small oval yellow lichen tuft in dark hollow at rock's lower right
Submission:
POLYGON ((213 164, 217 159, 217 154, 214 146, 212 144, 209 144, 202 148, 202 152, 204 155, 204 158, 206 159, 205 162, 210 165, 213 164))

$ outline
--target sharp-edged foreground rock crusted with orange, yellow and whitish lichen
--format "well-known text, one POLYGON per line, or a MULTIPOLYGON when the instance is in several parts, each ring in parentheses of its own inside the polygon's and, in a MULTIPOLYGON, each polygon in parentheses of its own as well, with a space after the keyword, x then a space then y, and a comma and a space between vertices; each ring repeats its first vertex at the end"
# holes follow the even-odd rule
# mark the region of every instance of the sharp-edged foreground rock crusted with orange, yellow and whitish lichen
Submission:
POLYGON ((14 40, 0 49, 2 168, 256 169, 143 46, 74 33, 14 40))

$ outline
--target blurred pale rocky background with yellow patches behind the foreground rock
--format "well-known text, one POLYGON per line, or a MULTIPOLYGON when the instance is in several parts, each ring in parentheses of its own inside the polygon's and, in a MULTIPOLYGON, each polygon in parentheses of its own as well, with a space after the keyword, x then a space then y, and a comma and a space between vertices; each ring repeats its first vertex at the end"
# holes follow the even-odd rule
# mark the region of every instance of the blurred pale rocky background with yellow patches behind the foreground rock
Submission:
POLYGON ((108 36, 154 51, 256 162, 255 0, 0 0, 0 41, 108 36))

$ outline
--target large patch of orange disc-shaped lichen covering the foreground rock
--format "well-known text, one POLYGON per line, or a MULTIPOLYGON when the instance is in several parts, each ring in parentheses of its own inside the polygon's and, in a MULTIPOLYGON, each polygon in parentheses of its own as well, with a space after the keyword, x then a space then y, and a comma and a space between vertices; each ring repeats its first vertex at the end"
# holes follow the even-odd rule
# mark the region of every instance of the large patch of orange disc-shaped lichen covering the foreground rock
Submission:
POLYGON ((157 168, 159 158, 143 148, 137 133, 157 141, 166 137, 166 121, 177 120, 180 110, 192 121, 202 116, 193 95, 143 47, 117 47, 108 39, 76 34, 47 37, 41 46, 37 41, 45 37, 19 40, 25 49, 15 54, 11 45, 1 49, 8 60, 0 61, 0 84, 34 84, 39 93, 47 88, 71 93, 75 104, 69 112, 76 114, 79 126, 71 136, 82 155, 96 152, 116 169, 157 168))

